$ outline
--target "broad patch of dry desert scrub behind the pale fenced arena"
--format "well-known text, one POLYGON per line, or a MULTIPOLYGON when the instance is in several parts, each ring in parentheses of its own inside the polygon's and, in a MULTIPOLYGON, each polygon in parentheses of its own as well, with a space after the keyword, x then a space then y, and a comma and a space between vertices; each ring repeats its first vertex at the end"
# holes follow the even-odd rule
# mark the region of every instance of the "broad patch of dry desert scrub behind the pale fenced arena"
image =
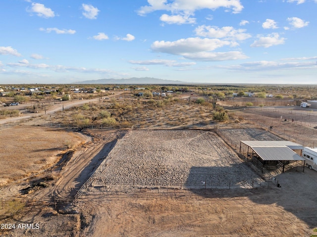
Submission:
MULTIPOLYGON (((152 126, 177 127, 193 124, 208 125, 214 116, 208 101, 195 103, 178 97, 111 99, 101 103, 89 103, 67 111, 72 114, 68 123, 75 127, 150 128, 152 126), (81 111, 78 113, 78 111, 81 111)), ((220 121, 228 120, 227 111, 220 121)), ((68 116, 69 117, 69 116, 68 116)))

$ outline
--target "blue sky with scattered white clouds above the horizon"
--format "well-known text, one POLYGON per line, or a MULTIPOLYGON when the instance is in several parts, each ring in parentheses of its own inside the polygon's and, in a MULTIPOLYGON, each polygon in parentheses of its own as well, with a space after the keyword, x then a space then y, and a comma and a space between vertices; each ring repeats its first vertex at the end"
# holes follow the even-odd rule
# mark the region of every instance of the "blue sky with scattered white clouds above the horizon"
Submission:
POLYGON ((2 0, 0 84, 317 84, 317 0, 2 0))

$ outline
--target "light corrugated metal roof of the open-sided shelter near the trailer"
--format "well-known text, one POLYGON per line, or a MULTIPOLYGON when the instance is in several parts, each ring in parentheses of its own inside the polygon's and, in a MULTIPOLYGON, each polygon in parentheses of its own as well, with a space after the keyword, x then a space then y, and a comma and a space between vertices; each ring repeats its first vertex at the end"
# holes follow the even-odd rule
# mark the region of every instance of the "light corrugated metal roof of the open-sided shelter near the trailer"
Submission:
POLYGON ((304 147, 288 141, 241 141, 250 146, 263 160, 305 160, 295 151, 304 147))

